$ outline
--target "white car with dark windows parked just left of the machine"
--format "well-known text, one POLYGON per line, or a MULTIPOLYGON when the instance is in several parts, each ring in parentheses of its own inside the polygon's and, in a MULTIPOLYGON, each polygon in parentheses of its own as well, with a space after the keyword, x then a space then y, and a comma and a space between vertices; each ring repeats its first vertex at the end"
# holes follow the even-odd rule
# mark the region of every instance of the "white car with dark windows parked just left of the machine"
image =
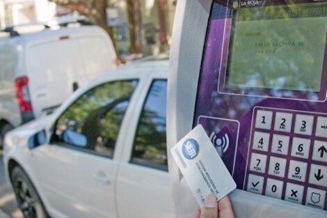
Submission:
POLYGON ((6 175, 25 217, 173 217, 168 61, 138 61, 9 132, 6 175))

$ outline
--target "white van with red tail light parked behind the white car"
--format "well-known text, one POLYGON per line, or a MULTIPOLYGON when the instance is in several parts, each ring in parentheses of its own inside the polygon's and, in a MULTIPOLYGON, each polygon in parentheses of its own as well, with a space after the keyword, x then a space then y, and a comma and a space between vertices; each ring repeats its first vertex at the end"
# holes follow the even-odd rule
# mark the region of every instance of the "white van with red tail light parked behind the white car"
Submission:
POLYGON ((117 56, 97 26, 0 36, 0 147, 8 130, 51 114, 78 86, 115 68, 117 56))

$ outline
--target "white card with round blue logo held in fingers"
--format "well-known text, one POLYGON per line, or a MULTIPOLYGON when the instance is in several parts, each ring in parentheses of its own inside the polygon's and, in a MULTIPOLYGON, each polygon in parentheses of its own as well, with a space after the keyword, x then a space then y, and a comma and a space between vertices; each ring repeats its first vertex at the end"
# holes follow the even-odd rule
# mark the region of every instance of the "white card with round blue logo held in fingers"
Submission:
POLYGON ((208 194, 215 194, 220 200, 236 189, 230 172, 202 125, 197 125, 171 148, 170 153, 200 207, 208 194))

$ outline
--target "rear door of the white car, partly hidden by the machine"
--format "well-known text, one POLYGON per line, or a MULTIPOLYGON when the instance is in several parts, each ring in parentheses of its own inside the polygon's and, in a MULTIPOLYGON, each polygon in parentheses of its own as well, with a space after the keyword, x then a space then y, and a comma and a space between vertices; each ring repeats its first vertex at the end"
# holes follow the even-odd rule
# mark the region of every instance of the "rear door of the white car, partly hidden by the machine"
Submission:
POLYGON ((166 153, 166 79, 149 81, 118 171, 120 218, 173 217, 166 153))

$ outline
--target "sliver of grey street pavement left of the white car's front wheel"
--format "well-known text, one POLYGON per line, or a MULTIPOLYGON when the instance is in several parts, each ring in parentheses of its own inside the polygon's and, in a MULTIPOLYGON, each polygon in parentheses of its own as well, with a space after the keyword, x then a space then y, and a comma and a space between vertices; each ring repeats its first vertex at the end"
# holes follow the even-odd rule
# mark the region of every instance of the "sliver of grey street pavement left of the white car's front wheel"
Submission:
POLYGON ((15 194, 8 184, 4 172, 2 151, 0 150, 0 218, 23 218, 22 212, 17 208, 15 194))

